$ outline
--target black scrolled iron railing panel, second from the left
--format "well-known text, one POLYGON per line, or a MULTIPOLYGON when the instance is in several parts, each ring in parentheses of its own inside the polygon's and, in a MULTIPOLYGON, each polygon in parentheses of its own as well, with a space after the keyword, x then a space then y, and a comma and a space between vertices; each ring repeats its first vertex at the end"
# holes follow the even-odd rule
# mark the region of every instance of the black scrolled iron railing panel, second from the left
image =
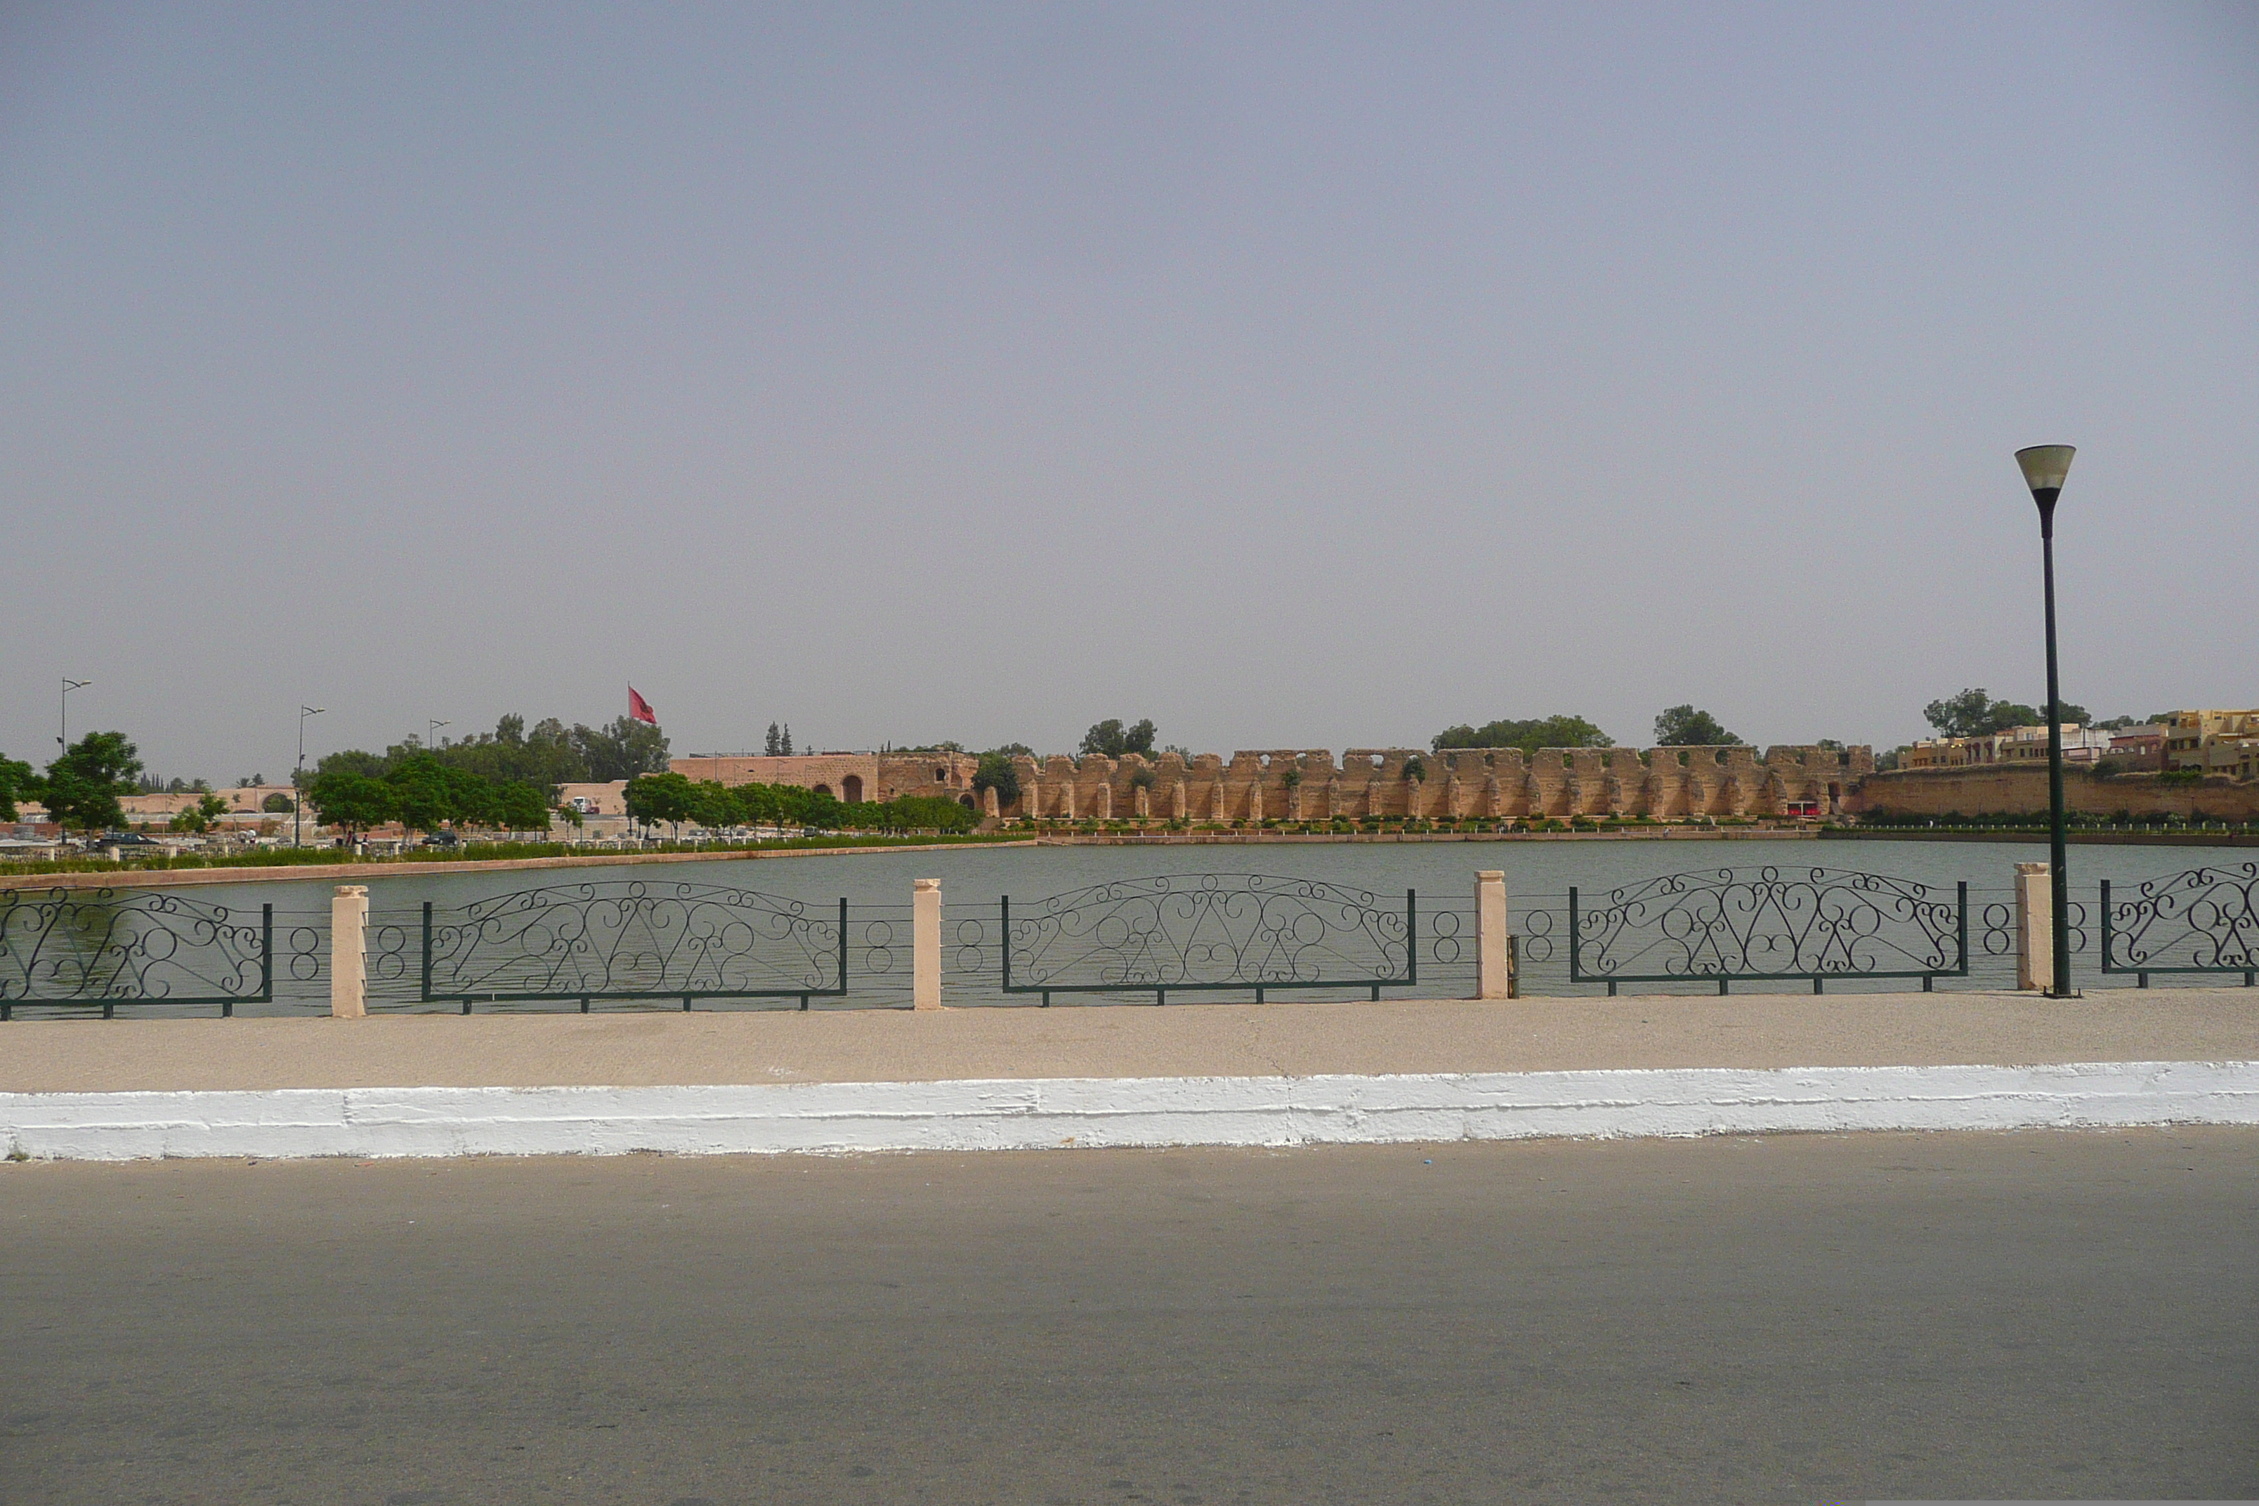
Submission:
MULTIPOLYGON (((404 942, 404 937, 400 937, 404 942)), ((422 908, 420 1002, 811 998, 847 993, 838 910, 705 883, 596 881, 422 908)), ((380 928, 377 978, 404 957, 380 928)))

